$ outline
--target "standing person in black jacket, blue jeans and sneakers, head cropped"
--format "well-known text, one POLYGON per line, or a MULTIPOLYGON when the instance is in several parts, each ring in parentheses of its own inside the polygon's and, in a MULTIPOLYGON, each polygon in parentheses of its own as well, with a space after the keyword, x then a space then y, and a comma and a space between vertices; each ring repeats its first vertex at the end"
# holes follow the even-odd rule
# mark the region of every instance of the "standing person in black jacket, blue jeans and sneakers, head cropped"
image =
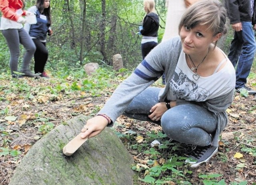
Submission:
POLYGON ((255 0, 226 0, 226 9, 230 24, 234 29, 234 39, 230 45, 228 58, 236 67, 236 92, 248 91, 248 94, 256 94, 256 91, 246 86, 247 77, 255 56, 256 41, 253 29, 255 22, 255 0))

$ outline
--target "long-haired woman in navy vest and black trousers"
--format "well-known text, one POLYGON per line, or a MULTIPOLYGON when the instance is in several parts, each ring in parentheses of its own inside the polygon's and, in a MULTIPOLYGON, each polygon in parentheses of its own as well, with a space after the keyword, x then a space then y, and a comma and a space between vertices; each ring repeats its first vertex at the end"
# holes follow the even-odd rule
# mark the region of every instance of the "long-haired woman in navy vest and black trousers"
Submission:
POLYGON ((52 35, 50 0, 37 0, 36 6, 28 9, 30 12, 36 14, 36 24, 26 23, 24 28, 29 33, 30 37, 36 45, 36 52, 34 53, 34 71, 40 73, 41 77, 48 78, 44 71, 46 61, 48 59, 48 50, 46 49, 46 35, 52 35))

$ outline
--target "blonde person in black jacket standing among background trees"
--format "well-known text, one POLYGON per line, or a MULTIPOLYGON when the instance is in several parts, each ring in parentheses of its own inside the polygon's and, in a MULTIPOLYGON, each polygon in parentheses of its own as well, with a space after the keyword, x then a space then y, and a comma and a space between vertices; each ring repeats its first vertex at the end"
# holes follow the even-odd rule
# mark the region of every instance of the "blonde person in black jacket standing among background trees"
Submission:
POLYGON ((141 40, 141 52, 142 59, 148 55, 148 53, 156 47, 157 32, 159 28, 159 17, 155 13, 155 1, 144 0, 144 10, 146 15, 143 18, 142 28, 140 27, 140 33, 143 35, 141 40))

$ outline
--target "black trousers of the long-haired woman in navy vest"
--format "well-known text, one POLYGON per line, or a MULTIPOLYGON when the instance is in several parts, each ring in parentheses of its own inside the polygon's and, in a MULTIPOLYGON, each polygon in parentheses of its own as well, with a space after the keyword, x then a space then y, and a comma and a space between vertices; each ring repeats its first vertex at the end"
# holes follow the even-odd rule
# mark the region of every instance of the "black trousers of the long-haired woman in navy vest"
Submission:
POLYGON ((46 43, 41 42, 39 39, 32 39, 36 45, 36 52, 34 53, 35 73, 44 72, 44 66, 48 59, 48 50, 46 49, 46 43))

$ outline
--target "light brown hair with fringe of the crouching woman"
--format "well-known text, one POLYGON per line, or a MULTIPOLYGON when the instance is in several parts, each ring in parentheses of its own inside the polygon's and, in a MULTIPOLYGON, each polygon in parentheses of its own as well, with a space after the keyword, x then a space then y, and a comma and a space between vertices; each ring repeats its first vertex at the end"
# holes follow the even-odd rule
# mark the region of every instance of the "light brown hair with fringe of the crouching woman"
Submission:
MULTIPOLYGON (((186 10, 179 24, 179 34, 182 26, 194 28, 198 25, 207 25, 213 35, 227 33, 226 9, 218 0, 200 0, 186 10)), ((216 45, 216 43, 215 43, 216 45)))

